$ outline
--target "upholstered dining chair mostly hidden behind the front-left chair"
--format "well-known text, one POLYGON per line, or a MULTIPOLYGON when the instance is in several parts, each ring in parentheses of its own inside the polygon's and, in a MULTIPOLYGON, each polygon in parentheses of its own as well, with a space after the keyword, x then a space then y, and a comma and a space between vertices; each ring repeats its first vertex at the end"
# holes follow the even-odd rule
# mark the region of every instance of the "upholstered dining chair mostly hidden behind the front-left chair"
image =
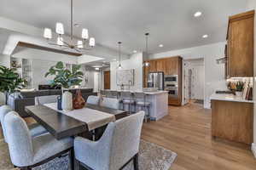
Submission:
MULTIPOLYGON (((4 117, 10 112, 13 111, 9 105, 3 105, 0 107, 0 121, 2 125, 2 130, 3 130, 3 138, 6 143, 8 143, 8 139, 6 138, 6 130, 5 126, 3 123, 4 117)), ((15 112, 16 113, 16 112, 15 112)), ((17 114, 19 116, 19 114, 17 114)), ((31 125, 28 126, 29 133, 31 134, 32 138, 37 137, 41 134, 48 133, 47 130, 39 125, 38 123, 32 123, 31 125)))

